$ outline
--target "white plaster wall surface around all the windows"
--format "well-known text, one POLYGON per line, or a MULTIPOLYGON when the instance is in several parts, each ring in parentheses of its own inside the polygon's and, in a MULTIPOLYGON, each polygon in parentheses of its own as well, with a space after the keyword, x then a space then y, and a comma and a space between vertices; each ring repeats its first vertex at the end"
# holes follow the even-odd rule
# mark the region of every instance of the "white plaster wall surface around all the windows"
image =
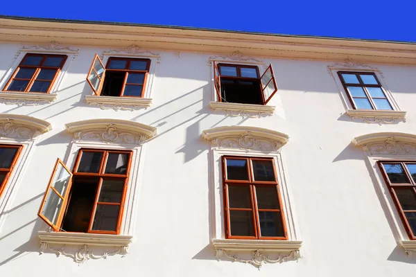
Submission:
MULTIPOLYGON (((0 46, 0 78, 10 69, 21 45, 0 46)), ((79 48, 77 46, 77 48, 79 48)), ((153 83, 153 105, 138 111, 102 110, 87 105, 92 93, 85 75, 95 53, 80 47, 58 91, 46 105, 0 105, 6 114, 48 120, 15 197, 1 217, 0 276, 411 276, 416 258, 397 247, 381 199, 364 162, 350 142, 371 132, 415 133, 416 68, 376 65, 406 123, 374 125, 352 120, 338 87, 327 72, 333 62, 268 60, 279 91, 270 105, 275 116, 227 117, 209 109, 213 99, 210 55, 161 52, 153 83), (39 255, 37 218, 42 195, 57 157, 67 158, 71 135, 64 123, 90 118, 120 118, 157 127, 146 143, 144 170, 130 253, 89 260, 39 255), (210 242, 209 143, 202 130, 226 125, 265 127, 290 136, 283 153, 293 204, 304 244, 298 262, 251 265, 217 262, 210 242)), ((261 58, 259 58, 261 59, 261 58)), ((2 88, 1 88, 2 89, 2 88)), ((72 166, 72 165, 69 165, 72 166)))

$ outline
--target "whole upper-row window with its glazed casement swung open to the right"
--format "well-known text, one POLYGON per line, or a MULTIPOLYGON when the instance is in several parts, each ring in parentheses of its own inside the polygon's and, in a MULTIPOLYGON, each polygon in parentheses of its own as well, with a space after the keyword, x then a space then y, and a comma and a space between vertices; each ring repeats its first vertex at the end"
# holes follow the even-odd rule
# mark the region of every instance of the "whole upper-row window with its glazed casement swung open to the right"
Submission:
POLYGON ((257 66, 214 62, 214 82, 219 102, 266 105, 277 91, 271 64, 260 76, 257 66))

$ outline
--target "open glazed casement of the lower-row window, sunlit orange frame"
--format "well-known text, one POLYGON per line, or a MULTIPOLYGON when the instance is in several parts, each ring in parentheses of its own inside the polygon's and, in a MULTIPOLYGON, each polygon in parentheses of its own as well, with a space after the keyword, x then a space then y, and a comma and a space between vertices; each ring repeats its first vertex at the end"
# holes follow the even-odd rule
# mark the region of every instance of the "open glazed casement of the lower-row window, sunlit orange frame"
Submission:
POLYGON ((72 176, 67 166, 58 159, 37 213, 54 231, 60 229, 64 207, 68 202, 69 190, 71 189, 72 176))

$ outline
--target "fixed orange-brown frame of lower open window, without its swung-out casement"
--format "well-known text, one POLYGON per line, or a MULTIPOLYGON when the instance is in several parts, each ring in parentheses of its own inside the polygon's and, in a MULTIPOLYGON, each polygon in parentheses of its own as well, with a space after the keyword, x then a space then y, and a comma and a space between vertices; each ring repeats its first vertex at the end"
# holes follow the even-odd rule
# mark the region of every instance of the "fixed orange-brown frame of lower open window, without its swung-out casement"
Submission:
MULTIPOLYGON (((123 219, 123 210, 124 210, 124 202, 125 202, 125 195, 127 192, 127 184, 128 184, 128 177, 130 175, 130 167, 131 167, 131 161, 132 161, 132 151, 126 151, 126 150, 98 150, 98 149, 80 149, 78 151, 78 157, 76 159, 76 163, 75 166, 73 167, 73 176, 74 177, 78 177, 78 176, 95 176, 95 177, 99 177, 99 183, 98 183, 98 187, 97 187, 97 191, 96 191, 96 197, 94 199, 94 208, 92 209, 92 215, 91 215, 91 221, 89 222, 89 228, 87 233, 105 233, 105 234, 119 234, 120 233, 120 227, 121 227, 121 220, 123 219), (83 152, 101 152, 103 153, 101 156, 101 162, 100 162, 100 166, 98 168, 98 172, 97 173, 89 173, 89 172, 78 172, 78 168, 80 165, 80 160, 81 157, 83 155, 83 152), (108 156, 111 153, 116 153, 116 154, 128 154, 128 163, 127 163, 127 168, 125 170, 125 175, 119 175, 119 174, 108 174, 105 173, 105 167, 107 166, 107 160, 108 160, 108 156), (122 197, 121 197, 121 202, 120 203, 112 203, 112 202, 98 202, 98 198, 100 196, 100 192, 101 192, 101 186, 103 184, 103 180, 104 179, 117 179, 117 180, 124 180, 124 188, 123 188, 123 193, 122 193, 122 197), (118 205, 120 206, 119 209, 119 219, 117 220, 117 226, 116 226, 116 231, 99 231, 99 230, 92 230, 92 226, 94 224, 94 216, 96 213, 96 208, 98 205, 118 205)), ((65 211, 67 210, 67 207, 65 208, 65 211)))

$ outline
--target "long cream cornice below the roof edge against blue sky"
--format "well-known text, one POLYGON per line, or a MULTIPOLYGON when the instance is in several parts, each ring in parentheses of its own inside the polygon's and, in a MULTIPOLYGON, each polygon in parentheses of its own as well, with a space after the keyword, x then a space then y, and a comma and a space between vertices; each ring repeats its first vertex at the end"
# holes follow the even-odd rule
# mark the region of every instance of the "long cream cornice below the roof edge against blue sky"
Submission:
POLYGON ((289 37, 229 33, 153 26, 121 26, 0 19, 3 42, 107 46, 136 44, 147 49, 192 51, 229 55, 241 51, 252 57, 308 60, 345 60, 385 64, 416 64, 416 45, 321 37, 289 37))

